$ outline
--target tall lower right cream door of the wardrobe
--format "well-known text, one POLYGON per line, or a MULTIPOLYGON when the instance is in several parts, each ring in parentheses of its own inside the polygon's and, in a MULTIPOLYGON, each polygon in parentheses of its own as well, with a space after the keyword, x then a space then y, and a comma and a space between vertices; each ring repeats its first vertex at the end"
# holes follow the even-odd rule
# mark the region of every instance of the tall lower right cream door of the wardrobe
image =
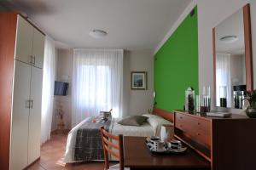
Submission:
POLYGON ((28 164, 40 157, 43 70, 32 66, 29 114, 28 164))

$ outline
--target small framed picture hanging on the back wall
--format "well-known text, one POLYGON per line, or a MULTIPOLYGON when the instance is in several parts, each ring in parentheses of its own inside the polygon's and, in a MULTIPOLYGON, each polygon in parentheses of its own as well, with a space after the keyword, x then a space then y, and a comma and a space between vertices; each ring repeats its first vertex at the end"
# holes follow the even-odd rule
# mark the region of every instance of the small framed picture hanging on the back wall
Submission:
POLYGON ((131 89, 145 90, 147 89, 147 72, 131 71, 131 89))

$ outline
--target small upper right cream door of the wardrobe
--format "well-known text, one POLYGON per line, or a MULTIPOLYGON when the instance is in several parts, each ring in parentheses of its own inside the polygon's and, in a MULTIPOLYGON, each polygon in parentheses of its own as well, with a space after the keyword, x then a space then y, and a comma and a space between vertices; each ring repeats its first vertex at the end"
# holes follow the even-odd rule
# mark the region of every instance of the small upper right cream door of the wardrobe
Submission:
POLYGON ((33 35, 33 65, 43 68, 44 66, 44 35, 34 28, 33 35))

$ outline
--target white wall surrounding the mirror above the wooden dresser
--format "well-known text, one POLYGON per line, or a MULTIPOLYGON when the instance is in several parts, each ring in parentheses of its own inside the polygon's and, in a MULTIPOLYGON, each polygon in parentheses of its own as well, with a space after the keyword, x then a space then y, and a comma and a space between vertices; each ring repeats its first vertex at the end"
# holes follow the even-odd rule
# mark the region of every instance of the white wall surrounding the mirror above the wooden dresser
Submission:
MULTIPOLYGON (((228 18, 247 3, 251 5, 253 38, 253 80, 256 86, 256 0, 197 0, 199 42, 199 88, 210 85, 213 89, 212 28, 228 18)), ((213 91, 213 90, 212 90, 213 91)), ((212 94, 212 98, 213 98, 212 94)), ((212 105, 213 105, 212 99, 212 105)))

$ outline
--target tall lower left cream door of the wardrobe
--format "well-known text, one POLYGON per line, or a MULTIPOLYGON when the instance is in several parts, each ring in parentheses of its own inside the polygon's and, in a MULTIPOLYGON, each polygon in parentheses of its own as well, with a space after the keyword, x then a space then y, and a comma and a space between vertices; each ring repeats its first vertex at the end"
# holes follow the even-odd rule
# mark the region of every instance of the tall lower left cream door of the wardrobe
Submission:
POLYGON ((10 169, 27 166, 27 138, 31 65, 15 61, 15 80, 11 127, 10 169))

